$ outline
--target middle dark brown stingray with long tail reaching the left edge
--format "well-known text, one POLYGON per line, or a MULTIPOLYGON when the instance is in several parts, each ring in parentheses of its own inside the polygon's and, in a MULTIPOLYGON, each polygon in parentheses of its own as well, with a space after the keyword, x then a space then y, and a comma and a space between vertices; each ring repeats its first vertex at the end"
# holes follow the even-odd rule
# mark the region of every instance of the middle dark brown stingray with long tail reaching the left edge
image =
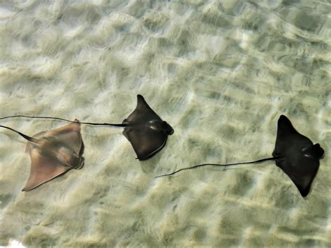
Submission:
MULTIPOLYGON (((10 117, 29 117, 41 119, 57 119, 65 122, 71 122, 67 119, 57 117, 36 117, 27 115, 13 115, 3 117, 6 119, 10 117)), ((145 99, 137 96, 137 106, 135 110, 128 115, 122 124, 111 123, 91 123, 80 122, 80 124, 88 124, 94 126, 120 126, 124 127, 123 134, 131 143, 137 158, 140 161, 146 160, 157 154, 165 146, 168 136, 172 135, 174 130, 172 127, 159 117, 159 115, 149 107, 145 99)))

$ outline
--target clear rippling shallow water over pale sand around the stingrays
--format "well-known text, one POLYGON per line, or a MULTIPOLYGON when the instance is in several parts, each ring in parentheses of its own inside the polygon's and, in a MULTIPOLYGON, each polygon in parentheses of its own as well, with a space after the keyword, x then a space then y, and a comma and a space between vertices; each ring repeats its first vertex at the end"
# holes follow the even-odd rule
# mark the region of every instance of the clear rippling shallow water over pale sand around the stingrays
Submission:
MULTIPOLYGON (((0 245, 331 246, 330 1, 1 1, 0 117, 122 122, 136 95, 175 129, 135 160, 82 126, 85 166, 29 192, 25 140, 0 133, 0 245), (307 198, 269 157, 279 115, 321 143, 307 198)), ((6 119, 27 135, 57 121, 6 119)))

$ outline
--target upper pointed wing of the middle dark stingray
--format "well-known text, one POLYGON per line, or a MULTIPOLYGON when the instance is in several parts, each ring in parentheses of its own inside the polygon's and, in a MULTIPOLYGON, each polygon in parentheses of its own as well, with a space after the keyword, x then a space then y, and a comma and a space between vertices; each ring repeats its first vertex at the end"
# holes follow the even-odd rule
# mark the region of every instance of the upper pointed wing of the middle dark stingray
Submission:
POLYGON ((134 123, 147 123, 152 119, 161 119, 156 112, 149 107, 145 99, 141 96, 137 96, 137 107, 135 110, 124 120, 124 122, 134 122, 134 123))

